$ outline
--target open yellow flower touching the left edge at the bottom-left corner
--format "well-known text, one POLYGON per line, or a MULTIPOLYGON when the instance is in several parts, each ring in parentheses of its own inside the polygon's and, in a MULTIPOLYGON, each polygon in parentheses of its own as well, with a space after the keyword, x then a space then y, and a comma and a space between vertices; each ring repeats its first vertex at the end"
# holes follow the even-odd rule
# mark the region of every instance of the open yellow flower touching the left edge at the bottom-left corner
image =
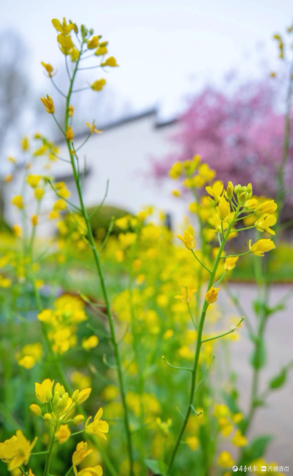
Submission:
POLYGON ((17 430, 16 436, 0 443, 0 459, 8 464, 8 470, 12 471, 22 465, 27 465, 31 450, 36 444, 37 436, 30 443, 22 434, 21 430, 17 430))

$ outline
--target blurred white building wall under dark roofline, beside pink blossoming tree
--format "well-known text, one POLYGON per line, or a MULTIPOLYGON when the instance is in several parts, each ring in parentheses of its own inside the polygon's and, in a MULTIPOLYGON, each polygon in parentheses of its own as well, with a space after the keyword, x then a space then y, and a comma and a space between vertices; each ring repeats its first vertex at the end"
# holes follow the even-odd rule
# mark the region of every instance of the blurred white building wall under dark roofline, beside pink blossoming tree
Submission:
MULTIPOLYGON (((179 124, 155 128, 155 120, 155 114, 150 114, 105 130, 102 134, 93 134, 86 142, 78 155, 81 163, 86 157, 86 168, 89 171, 83 189, 87 206, 99 203, 109 179, 106 204, 125 208, 133 213, 138 212, 144 205, 153 205, 164 212, 169 212, 176 227, 180 225, 187 207, 186 202, 171 194, 172 189, 176 188, 176 182, 167 179, 158 184, 150 176, 150 158, 164 157, 172 150, 173 145, 168 138, 178 130, 179 124)), ((83 140, 80 139, 80 142, 83 140)), ((75 146, 78 147, 78 141, 75 146)), ((61 146, 59 155, 68 158, 65 144, 61 146)), ((60 160, 53 162, 50 171, 45 172, 44 169, 40 170, 38 163, 41 160, 38 160, 31 173, 50 174, 57 180, 71 174, 71 166, 66 162, 60 160)), ((21 172, 17 174, 14 182, 7 186, 8 202, 15 193, 19 193, 20 176, 21 172)), ((73 189, 72 192, 74 192, 72 199, 76 202, 76 193, 73 189)), ((53 200, 54 197, 49 194, 43 207, 46 212, 50 210, 53 200)), ((18 221, 18 213, 15 212, 16 210, 8 203, 6 216, 10 223, 18 221)), ((29 208, 28 214, 33 213, 35 210, 29 208)), ((40 227, 40 233, 42 235, 52 233, 52 226, 47 223, 46 226, 40 227)))

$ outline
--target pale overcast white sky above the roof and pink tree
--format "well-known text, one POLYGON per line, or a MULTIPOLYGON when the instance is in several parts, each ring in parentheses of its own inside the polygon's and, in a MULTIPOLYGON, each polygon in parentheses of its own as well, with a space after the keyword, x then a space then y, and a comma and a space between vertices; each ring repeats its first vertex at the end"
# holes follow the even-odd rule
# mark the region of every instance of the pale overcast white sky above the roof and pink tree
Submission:
MULTIPOLYGON (((172 109, 180 95, 203 80, 220 81, 230 69, 259 74, 264 57, 274 67, 275 31, 291 22, 289 0, 9 0, 1 6, 0 29, 19 32, 29 49, 28 68, 46 92, 40 61, 60 65, 52 18, 70 18, 109 40, 120 68, 109 85, 135 108, 161 101, 172 109), (258 53, 256 45, 263 44, 258 53)), ((98 79, 98 69, 89 71, 98 79)), ((56 77, 57 80, 57 77, 56 77)))

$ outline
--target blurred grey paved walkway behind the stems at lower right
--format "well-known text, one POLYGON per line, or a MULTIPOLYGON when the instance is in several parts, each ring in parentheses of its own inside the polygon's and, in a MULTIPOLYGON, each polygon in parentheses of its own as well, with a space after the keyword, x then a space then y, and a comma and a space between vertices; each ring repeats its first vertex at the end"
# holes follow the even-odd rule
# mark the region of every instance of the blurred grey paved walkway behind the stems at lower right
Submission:
MULTIPOLYGON (((271 292, 270 306, 274 305, 292 286, 274 285, 271 292)), ((256 297, 256 288, 250 284, 231 284, 230 289, 238 297, 246 310, 247 316, 255 327, 256 318, 252 310, 252 301, 256 297)), ((231 315, 235 308, 227 302, 221 293, 221 305, 228 307, 231 315)), ((219 295, 220 297, 220 295, 219 295)), ((226 308, 227 308, 226 307, 226 308)), ((248 364, 252 351, 252 344, 247 337, 246 326, 239 330, 241 338, 232 343, 231 366, 238 373, 238 388, 241 393, 241 403, 247 408, 250 399, 252 368, 248 364)), ((266 382, 280 368, 293 359, 293 293, 287 301, 286 309, 269 318, 266 327, 266 367, 262 369, 260 386, 264 389, 266 382)), ((274 440, 270 444, 266 461, 275 461, 278 465, 289 466, 289 474, 293 474, 293 369, 287 383, 279 390, 275 390, 267 398, 267 406, 259 407, 249 437, 261 434, 273 434, 274 440)), ((288 473, 286 473, 288 474, 288 473)))

